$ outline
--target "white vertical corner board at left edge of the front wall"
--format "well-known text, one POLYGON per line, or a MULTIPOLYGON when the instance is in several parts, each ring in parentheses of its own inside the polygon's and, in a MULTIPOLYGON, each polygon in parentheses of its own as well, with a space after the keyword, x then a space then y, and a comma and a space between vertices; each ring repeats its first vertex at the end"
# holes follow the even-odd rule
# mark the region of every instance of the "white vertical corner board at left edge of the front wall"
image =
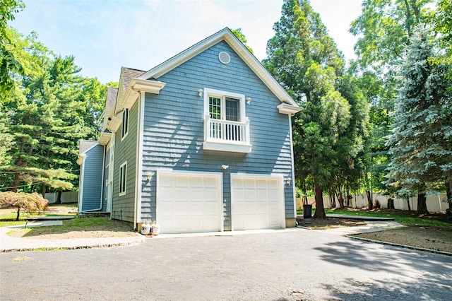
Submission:
MULTIPOLYGON (((139 92, 139 91, 138 91, 139 92)), ((141 222, 141 189, 143 175, 143 130, 144 130, 145 92, 138 98, 138 134, 136 135, 136 176, 135 176, 135 210, 133 211, 133 227, 141 222)))

